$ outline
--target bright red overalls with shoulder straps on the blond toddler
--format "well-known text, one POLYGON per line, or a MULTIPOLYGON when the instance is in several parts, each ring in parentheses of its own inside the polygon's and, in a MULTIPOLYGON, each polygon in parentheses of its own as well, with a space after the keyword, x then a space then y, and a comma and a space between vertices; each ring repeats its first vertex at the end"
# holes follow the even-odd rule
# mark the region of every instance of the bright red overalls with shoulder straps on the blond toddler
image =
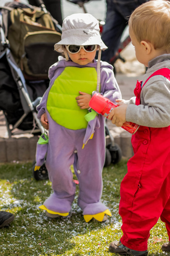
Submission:
MULTIPOLYGON (((160 69, 150 77, 158 74, 170 80, 169 69, 160 69)), ((137 81, 136 105, 140 104, 140 92, 141 82, 137 81)), ((140 126, 132 136, 132 145, 134 156, 127 163, 120 186, 120 240, 130 249, 145 251, 150 229, 159 217, 166 223, 170 240, 170 126, 140 126)))

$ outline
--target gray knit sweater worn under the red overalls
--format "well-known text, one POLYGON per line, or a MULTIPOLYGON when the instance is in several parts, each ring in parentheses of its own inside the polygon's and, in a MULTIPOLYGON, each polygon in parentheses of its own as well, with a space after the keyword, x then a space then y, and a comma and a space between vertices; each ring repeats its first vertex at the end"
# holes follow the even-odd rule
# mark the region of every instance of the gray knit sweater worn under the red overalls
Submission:
MULTIPOLYGON (((148 63, 143 76, 143 84, 147 78, 160 68, 170 69, 170 54, 158 56, 148 63)), ((136 97, 125 101, 128 104, 126 121, 147 127, 167 127, 170 125, 170 81, 162 75, 151 77, 141 90, 140 105, 135 105, 136 97)))

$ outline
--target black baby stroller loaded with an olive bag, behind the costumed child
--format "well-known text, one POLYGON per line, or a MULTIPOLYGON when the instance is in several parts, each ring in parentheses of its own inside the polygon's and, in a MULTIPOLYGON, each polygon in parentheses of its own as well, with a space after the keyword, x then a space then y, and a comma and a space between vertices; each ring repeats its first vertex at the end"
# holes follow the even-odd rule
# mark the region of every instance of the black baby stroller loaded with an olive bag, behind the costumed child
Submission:
MULTIPOLYGON (((40 7, 17 2, 0 7, 0 109, 6 118, 9 137, 18 133, 44 133, 37 119, 36 106, 49 85, 48 68, 58 61, 59 54, 53 48, 60 38, 61 27, 47 12, 42 0, 40 7), (30 17, 34 18, 33 28, 28 24, 30 17), (22 33, 16 33, 18 19, 22 19, 19 22, 26 27, 27 33, 21 27, 22 33)), ((105 132, 105 166, 108 166, 111 162, 119 162, 121 150, 114 143, 107 126, 105 132)), ((37 171, 34 171, 34 165, 34 178, 47 179, 45 163, 37 171)))

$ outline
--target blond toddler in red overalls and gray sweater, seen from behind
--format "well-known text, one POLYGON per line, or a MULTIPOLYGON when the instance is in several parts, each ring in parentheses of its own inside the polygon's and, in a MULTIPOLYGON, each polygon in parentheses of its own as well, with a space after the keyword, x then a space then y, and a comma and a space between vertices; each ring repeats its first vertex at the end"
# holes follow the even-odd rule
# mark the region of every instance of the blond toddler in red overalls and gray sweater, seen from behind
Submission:
MULTIPOLYGON (((120 187, 123 236, 109 250, 147 255, 150 229, 159 218, 170 241, 170 2, 154 0, 136 8, 129 35, 136 58, 148 69, 137 82, 136 97, 117 100, 119 106, 108 117, 120 127, 125 121, 140 125, 132 136, 134 156, 120 187)), ((170 242, 161 249, 170 252, 170 242)))

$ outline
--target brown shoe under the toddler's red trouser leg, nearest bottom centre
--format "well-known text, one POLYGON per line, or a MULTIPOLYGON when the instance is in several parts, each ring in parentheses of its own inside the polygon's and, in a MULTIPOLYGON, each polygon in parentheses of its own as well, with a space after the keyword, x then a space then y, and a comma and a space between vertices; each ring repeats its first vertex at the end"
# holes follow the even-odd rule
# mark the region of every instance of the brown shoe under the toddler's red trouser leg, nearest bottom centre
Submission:
POLYGON ((120 241, 113 241, 109 246, 109 251, 113 253, 119 253, 120 255, 134 255, 134 256, 144 256, 148 254, 148 251, 136 251, 129 249, 123 245, 120 241))

